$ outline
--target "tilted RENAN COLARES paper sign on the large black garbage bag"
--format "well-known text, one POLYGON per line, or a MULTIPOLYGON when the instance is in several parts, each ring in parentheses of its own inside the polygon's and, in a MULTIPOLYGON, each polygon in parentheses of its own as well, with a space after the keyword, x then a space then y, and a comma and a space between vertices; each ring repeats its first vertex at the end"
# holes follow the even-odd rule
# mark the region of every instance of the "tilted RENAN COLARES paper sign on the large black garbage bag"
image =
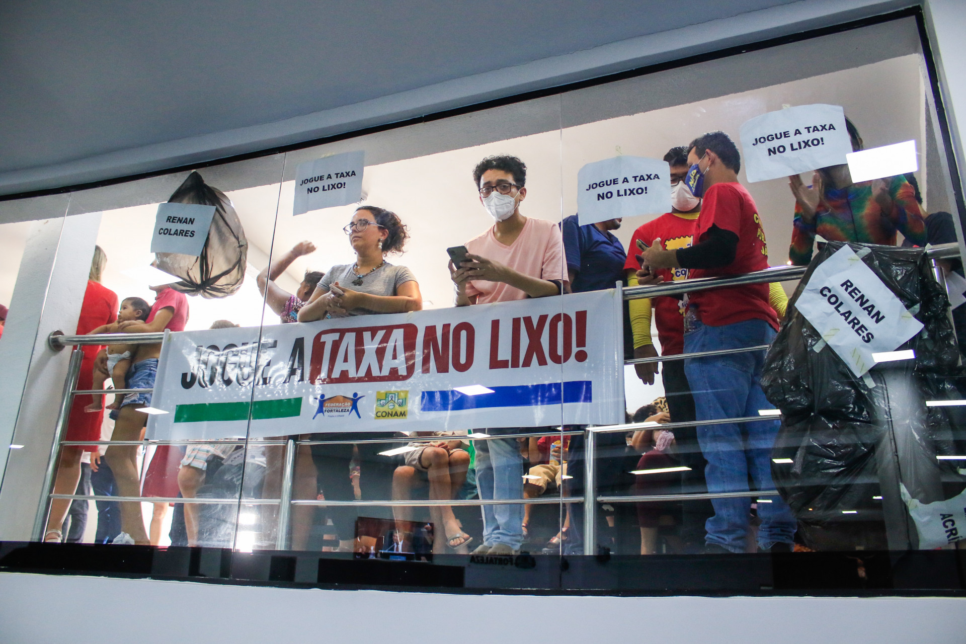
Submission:
POLYGON ((872 353, 895 350, 923 328, 849 246, 812 271, 795 308, 856 376, 875 364, 872 353))

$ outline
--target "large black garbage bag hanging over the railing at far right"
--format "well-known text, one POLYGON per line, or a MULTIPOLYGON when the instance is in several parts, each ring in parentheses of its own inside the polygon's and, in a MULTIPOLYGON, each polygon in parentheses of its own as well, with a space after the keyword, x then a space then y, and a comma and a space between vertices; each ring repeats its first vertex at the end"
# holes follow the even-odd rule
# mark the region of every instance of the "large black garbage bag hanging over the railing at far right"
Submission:
POLYGON ((795 303, 816 266, 842 245, 827 243, 812 260, 765 358, 761 386, 782 413, 772 456, 791 460, 773 461, 772 477, 807 546, 885 548, 882 499, 895 502, 898 479, 924 502, 946 498, 951 482, 952 490, 962 489, 952 462, 935 457, 956 449, 963 413, 924 403, 961 398, 963 371, 948 298, 921 249, 849 244, 857 252, 869 249, 863 261, 923 322, 923 330, 897 348, 914 350, 915 360, 873 367, 875 386, 869 386, 831 348, 813 350, 820 336, 795 303), (890 468, 895 481, 884 489, 890 468))

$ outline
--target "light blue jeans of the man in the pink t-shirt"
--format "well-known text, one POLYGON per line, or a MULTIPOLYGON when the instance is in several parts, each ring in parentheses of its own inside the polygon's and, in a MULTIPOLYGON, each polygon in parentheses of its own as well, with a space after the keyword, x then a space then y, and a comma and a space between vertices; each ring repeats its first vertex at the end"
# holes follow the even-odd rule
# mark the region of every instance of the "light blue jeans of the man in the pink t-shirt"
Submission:
MULTIPOLYGON (((485 430, 487 434, 509 434, 516 430, 485 430)), ((524 497, 524 458, 517 439, 491 438, 473 441, 476 449, 476 490, 484 500, 524 497)), ((519 550, 524 543, 524 506, 484 505, 483 543, 505 544, 519 550)))

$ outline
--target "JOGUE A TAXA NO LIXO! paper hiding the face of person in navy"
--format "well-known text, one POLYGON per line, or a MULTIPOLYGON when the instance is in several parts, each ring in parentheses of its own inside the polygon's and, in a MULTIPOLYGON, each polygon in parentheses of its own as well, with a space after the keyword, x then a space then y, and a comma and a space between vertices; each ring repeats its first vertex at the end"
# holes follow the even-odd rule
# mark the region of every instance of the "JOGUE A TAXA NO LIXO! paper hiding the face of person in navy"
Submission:
POLYGON ((577 173, 580 224, 669 212, 668 173, 667 161, 646 156, 621 155, 587 163, 577 173))

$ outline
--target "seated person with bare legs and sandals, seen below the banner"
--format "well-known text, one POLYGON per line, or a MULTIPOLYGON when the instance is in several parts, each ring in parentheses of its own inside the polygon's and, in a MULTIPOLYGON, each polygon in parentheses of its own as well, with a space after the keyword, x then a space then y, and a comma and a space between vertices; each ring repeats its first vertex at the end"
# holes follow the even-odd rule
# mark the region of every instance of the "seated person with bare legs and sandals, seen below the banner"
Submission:
MULTIPOLYGON (((413 441, 409 444, 412 451, 404 456, 405 463, 396 468, 392 476, 393 500, 412 498, 412 487, 417 479, 425 474, 429 479, 430 499, 454 499, 467 480, 469 469, 469 443, 461 439, 466 432, 417 432, 418 436, 439 436, 450 438, 435 442, 413 441)), ((446 539, 436 539, 433 551, 440 553, 449 546, 457 552, 465 553, 467 545, 472 541, 463 531, 459 520, 453 515, 453 508, 449 505, 434 505, 429 507, 433 525, 442 526, 446 539)), ((412 507, 398 506, 395 509, 397 521, 411 521, 412 507)))

